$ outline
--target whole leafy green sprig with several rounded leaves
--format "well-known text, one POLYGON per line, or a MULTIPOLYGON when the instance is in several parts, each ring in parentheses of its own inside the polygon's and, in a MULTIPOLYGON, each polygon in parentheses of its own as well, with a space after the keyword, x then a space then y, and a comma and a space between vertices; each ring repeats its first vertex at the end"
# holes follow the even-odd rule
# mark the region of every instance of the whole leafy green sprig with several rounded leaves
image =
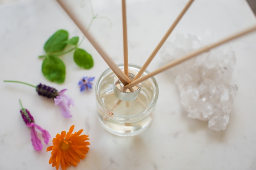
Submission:
POLYGON ((63 83, 66 77, 66 66, 59 56, 72 51, 74 51, 73 59, 76 65, 83 69, 91 69, 93 67, 92 55, 84 49, 78 48, 82 43, 81 41, 78 44, 78 41, 79 37, 68 39, 68 31, 58 30, 45 42, 44 51, 46 55, 39 56, 39 58, 44 58, 42 73, 45 78, 55 83, 63 83), (68 45, 73 47, 64 51, 68 45))

